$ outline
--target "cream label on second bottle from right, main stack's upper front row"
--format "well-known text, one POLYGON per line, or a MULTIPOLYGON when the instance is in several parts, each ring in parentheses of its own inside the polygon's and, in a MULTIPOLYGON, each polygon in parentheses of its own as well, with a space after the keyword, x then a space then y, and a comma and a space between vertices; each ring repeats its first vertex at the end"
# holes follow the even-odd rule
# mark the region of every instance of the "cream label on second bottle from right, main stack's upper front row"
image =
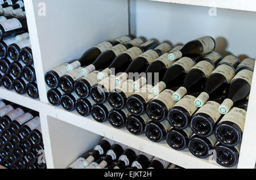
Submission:
POLYGON ((218 119, 221 117, 220 112, 218 112, 218 107, 220 104, 215 101, 208 101, 203 107, 197 110, 197 113, 205 113, 208 114, 214 122, 217 122, 218 119))

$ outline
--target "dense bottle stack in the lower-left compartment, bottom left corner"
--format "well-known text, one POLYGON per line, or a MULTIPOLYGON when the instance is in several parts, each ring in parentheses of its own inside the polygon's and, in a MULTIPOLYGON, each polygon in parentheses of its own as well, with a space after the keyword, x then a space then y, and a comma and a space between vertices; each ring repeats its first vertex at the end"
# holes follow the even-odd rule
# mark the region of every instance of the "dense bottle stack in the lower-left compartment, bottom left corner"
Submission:
POLYGON ((9 169, 45 169, 39 113, 0 101, 0 165, 9 169))

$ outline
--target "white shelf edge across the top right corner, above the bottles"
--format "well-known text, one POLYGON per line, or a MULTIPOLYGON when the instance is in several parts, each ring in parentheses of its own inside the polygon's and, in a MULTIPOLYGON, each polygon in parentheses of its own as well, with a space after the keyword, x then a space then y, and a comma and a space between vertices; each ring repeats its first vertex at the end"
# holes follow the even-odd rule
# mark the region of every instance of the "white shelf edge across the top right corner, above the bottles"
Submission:
POLYGON ((256 1, 254 0, 150 0, 158 2, 178 3, 183 5, 195 5, 217 8, 229 8, 232 10, 256 11, 256 1))

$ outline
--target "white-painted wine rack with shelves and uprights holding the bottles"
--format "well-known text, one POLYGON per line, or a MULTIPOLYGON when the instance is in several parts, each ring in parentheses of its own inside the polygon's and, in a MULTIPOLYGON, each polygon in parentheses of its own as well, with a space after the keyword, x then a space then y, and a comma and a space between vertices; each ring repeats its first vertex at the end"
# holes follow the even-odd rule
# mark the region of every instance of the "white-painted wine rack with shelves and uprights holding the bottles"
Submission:
MULTIPOLYGON (((79 155, 92 149, 101 136, 183 168, 223 168, 209 158, 192 156, 188 150, 175 151, 166 142, 153 143, 144 135, 131 135, 125 128, 118 130, 107 122, 98 123, 75 111, 65 112, 61 107, 49 105, 44 74, 79 58, 92 45, 129 33, 161 42, 170 40, 174 45, 210 35, 216 38, 217 50, 223 55, 228 51, 255 58, 254 0, 216 0, 214 4, 204 0, 24 0, 24 4, 40 100, 2 87, 0 97, 40 112, 48 168, 67 168, 79 155), (208 14, 212 7, 217 7, 216 16, 208 14)), ((255 166, 255 100, 254 74, 240 160, 234 168, 255 166)))

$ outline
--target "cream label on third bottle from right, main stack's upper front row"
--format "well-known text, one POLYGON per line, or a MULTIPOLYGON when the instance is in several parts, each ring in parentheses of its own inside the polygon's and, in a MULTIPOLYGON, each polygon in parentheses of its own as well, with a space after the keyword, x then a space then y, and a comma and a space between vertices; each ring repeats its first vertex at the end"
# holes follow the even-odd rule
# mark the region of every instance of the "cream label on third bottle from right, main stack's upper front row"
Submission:
POLYGON ((197 106, 194 105, 195 100, 196 100, 196 97, 187 95, 187 96, 184 96, 179 102, 177 102, 175 106, 184 108, 185 110, 188 111, 190 115, 192 115, 198 109, 197 106))

